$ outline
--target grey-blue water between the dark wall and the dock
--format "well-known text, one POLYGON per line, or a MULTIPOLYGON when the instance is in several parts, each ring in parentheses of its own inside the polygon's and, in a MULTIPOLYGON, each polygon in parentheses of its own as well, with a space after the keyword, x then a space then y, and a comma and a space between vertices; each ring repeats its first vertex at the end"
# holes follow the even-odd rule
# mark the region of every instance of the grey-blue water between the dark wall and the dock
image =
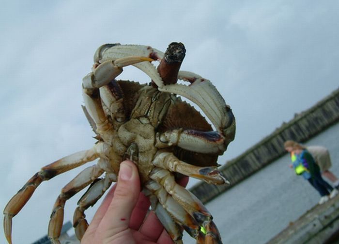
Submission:
MULTIPOLYGON (((327 147, 332 159, 330 170, 339 178, 339 123, 305 145, 327 147)), ((223 243, 266 243, 318 204, 318 192, 295 175, 290 163, 285 155, 205 205, 214 216, 223 243)), ((187 234, 183 240, 185 244, 195 243, 187 234)))

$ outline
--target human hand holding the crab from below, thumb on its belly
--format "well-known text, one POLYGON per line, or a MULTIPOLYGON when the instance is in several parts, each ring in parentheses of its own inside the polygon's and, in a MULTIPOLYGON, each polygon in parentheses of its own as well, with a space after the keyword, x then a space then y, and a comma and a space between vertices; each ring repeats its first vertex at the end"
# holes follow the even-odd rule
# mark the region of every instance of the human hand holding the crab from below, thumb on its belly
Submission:
MULTIPOLYGON (((186 185, 188 178, 182 179, 186 185)), ((151 211, 149 199, 140 193, 140 180, 136 165, 124 161, 120 165, 118 182, 108 192, 81 244, 172 244, 167 231, 151 211)))

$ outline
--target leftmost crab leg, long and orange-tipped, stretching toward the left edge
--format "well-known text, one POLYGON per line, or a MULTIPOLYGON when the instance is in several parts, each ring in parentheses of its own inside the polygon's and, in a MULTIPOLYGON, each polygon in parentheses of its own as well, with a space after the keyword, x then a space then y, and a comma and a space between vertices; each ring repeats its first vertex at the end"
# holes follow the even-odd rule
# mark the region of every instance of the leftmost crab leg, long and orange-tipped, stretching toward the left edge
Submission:
POLYGON ((103 143, 98 143, 89 150, 71 154, 54 163, 48 164, 32 176, 17 194, 11 198, 3 211, 3 229, 8 243, 12 243, 12 218, 25 206, 42 181, 52 179, 63 172, 93 161, 99 157, 99 153, 102 151, 104 151, 104 145, 103 143))

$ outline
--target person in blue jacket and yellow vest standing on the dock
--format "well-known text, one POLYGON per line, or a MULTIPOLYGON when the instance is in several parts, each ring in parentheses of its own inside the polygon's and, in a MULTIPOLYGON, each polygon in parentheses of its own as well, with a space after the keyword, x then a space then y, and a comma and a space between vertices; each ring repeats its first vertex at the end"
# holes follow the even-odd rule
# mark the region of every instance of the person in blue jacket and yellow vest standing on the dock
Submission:
POLYGON ((305 147, 300 144, 294 145, 292 157, 294 159, 293 169, 295 173, 307 179, 321 195, 319 204, 323 204, 328 201, 329 198, 333 198, 339 193, 337 189, 334 189, 322 178, 318 164, 315 163, 312 155, 305 147))

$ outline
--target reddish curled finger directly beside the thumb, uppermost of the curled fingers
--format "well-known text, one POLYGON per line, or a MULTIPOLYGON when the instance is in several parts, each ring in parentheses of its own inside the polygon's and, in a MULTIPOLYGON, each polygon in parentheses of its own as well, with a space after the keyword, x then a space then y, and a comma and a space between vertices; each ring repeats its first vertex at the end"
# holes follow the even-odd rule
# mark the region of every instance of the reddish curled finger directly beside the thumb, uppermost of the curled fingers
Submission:
POLYGON ((140 228, 150 205, 151 205, 150 200, 143 193, 140 193, 137 205, 132 211, 131 220, 129 222, 129 228, 135 230, 138 230, 140 228))

